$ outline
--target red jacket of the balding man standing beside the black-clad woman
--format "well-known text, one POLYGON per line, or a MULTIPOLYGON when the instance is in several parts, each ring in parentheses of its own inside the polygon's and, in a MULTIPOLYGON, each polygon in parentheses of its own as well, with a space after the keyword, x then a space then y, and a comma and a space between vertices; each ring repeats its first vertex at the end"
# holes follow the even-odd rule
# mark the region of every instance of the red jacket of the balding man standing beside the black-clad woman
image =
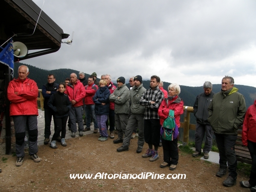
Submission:
POLYGON ((85 96, 85 89, 84 85, 79 80, 77 80, 75 84, 69 82, 64 93, 69 96, 70 101, 76 101, 76 104, 72 105, 72 107, 79 107, 84 105, 83 98, 85 96))

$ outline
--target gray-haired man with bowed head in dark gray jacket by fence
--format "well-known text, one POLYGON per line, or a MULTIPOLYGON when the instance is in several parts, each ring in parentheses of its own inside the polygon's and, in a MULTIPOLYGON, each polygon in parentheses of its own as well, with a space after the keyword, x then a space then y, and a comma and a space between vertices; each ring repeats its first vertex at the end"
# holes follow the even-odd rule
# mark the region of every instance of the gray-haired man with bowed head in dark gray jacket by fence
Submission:
POLYGON ((201 154, 201 147, 205 133, 204 143, 204 158, 209 158, 209 151, 212 149, 212 127, 208 122, 208 107, 212 101, 212 97, 215 93, 212 92, 212 83, 210 81, 204 82, 204 93, 199 94, 195 99, 194 115, 196 118, 195 127, 195 153, 193 157, 198 157, 201 154))

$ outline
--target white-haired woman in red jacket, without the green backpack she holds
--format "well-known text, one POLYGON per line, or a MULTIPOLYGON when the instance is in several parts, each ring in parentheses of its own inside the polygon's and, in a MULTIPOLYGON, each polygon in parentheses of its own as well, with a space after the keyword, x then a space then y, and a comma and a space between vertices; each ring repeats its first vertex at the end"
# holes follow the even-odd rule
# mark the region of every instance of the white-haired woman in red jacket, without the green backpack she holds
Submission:
MULTIPOLYGON (((180 94, 180 86, 178 84, 170 84, 168 87, 168 98, 164 99, 158 109, 158 115, 160 117, 160 124, 163 125, 164 120, 169 116, 169 111, 174 111, 175 123, 180 128, 180 115, 183 114, 184 102, 178 96, 180 94)), ((161 138, 163 145, 163 163, 161 168, 170 166, 170 170, 175 170, 178 160, 178 138, 172 141, 167 141, 161 138)))

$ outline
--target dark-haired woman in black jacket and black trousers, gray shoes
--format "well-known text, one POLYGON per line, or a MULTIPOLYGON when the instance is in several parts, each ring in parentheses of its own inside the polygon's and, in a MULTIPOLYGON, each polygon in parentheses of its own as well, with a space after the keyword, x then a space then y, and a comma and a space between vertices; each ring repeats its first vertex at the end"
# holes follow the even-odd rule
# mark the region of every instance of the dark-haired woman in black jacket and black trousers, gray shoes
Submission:
POLYGON ((55 112, 54 126, 55 132, 52 136, 50 144, 51 148, 57 148, 56 139, 61 133, 61 145, 67 146, 65 142, 66 136, 66 124, 68 118, 68 112, 71 108, 71 102, 67 94, 64 93, 66 90, 66 84, 60 83, 58 91, 53 93, 48 101, 48 106, 55 112))

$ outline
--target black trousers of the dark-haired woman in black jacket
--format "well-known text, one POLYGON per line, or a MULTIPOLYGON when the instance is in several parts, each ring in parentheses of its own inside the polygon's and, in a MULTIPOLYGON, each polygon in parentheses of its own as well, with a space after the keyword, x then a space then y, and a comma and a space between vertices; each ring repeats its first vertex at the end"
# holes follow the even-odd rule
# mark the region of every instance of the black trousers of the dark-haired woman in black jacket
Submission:
POLYGON ((52 141, 57 140, 57 137, 59 136, 60 133, 61 133, 61 139, 65 138, 67 118, 68 118, 68 116, 64 116, 62 118, 55 118, 54 119, 55 131, 54 131, 54 134, 52 136, 52 141))

